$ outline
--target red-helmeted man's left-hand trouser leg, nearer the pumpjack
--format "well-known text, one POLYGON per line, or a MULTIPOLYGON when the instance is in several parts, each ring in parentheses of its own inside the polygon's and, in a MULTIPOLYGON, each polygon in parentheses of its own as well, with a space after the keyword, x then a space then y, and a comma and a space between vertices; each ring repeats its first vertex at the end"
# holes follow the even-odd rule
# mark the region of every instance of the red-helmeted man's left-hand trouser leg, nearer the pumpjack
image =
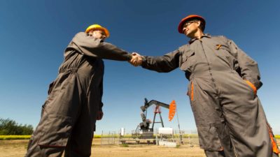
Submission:
POLYGON ((193 100, 190 99, 190 104, 197 124, 200 147, 210 157, 235 157, 230 133, 225 126, 220 99, 214 94, 214 91, 205 92, 200 89, 208 84, 197 82, 197 80, 192 80, 191 84, 193 84, 193 88, 188 87, 188 90, 193 93, 193 100))

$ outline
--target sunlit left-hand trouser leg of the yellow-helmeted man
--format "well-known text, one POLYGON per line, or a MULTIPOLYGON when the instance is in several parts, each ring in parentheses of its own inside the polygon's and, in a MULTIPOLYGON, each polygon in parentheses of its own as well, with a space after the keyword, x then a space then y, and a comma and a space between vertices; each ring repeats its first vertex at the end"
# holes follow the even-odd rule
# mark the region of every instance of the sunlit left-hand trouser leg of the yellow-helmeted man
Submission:
POLYGON ((75 75, 60 75, 56 81, 64 82, 64 86, 55 85, 45 101, 41 120, 29 142, 26 157, 62 156, 71 137, 73 124, 79 115, 80 92, 78 85, 73 83, 76 80, 75 75), (65 78, 69 79, 69 82, 64 81, 65 78))

